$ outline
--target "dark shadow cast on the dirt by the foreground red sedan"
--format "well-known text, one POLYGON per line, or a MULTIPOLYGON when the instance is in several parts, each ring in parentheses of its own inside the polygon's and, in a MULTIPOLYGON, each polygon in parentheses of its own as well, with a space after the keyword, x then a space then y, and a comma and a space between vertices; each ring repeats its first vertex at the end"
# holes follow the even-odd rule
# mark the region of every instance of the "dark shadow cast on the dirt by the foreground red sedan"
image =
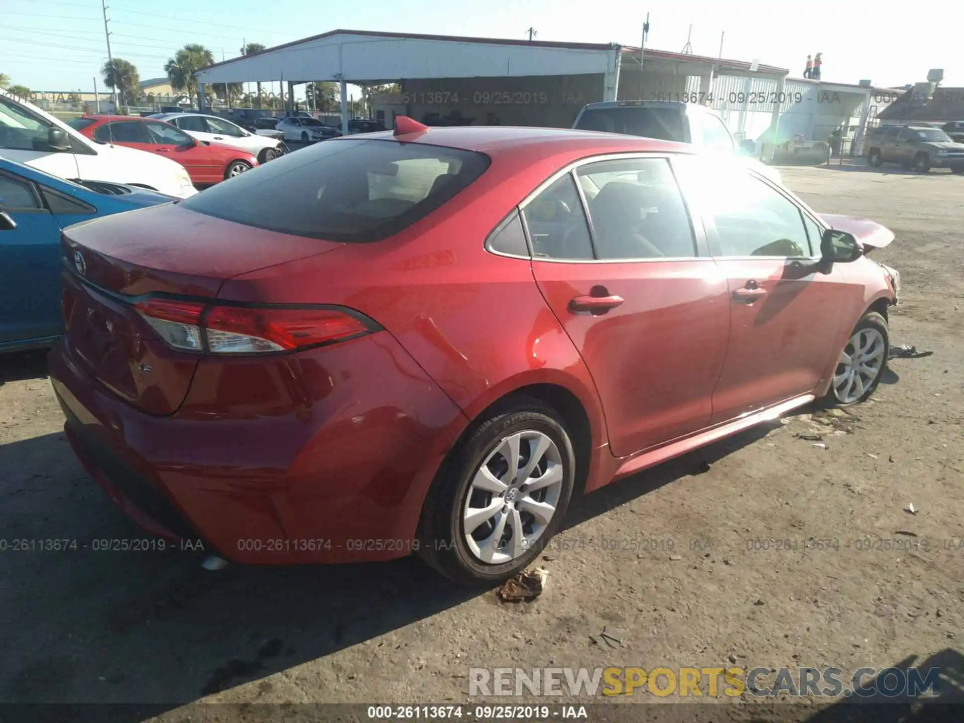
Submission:
MULTIPOLYGON (((704 471, 770 428, 585 495, 566 526, 704 471)), ((141 720, 492 594, 415 558, 208 572, 200 550, 158 549, 121 516, 62 433, 0 446, 0 492, 0 703, 134 704, 121 718, 141 720)))

